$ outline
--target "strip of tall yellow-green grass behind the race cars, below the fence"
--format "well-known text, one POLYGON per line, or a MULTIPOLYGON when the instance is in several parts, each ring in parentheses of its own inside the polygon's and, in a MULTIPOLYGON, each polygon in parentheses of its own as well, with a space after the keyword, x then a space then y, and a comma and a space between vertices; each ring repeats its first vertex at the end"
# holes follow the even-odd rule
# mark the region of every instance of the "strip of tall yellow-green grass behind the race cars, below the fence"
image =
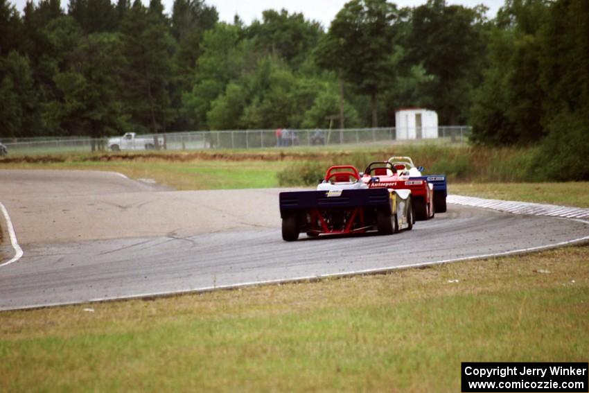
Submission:
MULTIPOLYGON (((443 146, 439 144, 371 146, 340 146, 340 150, 317 148, 202 150, 197 152, 101 152, 94 154, 49 155, 34 157, 4 157, 0 165, 19 166, 89 166, 112 164, 140 167, 147 164, 180 164, 202 166, 206 161, 231 162, 241 166, 260 164, 265 177, 280 186, 310 186, 322 179, 332 165, 353 165, 359 171, 372 161, 389 157, 410 156, 417 166, 425 167, 425 174, 445 174, 450 182, 548 182, 554 181, 558 165, 547 164, 550 157, 540 147, 490 148, 482 146, 443 146), (258 161, 254 163, 253 161, 258 161), (247 164, 246 164, 247 163, 247 164), (276 173, 276 177, 274 177, 276 173)), ((223 165, 225 165, 223 164, 223 165)), ((97 167, 98 168, 98 167, 97 167)), ((216 173, 211 168, 211 173, 216 173)), ((572 175, 558 176, 558 180, 575 180, 572 175)), ((168 184, 164 182, 164 184, 168 184)), ((176 186, 177 184, 169 184, 176 186)), ((216 187, 213 187, 216 188, 216 187)), ((184 189, 182 187, 182 189, 184 189)))

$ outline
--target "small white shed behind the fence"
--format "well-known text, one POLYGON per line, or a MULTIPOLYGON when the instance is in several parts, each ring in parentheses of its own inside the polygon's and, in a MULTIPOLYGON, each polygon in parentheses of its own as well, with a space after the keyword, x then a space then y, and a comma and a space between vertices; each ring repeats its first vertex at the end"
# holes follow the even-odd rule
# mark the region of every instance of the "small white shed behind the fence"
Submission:
POLYGON ((395 112, 396 139, 438 137, 438 114, 423 108, 402 108, 395 112))

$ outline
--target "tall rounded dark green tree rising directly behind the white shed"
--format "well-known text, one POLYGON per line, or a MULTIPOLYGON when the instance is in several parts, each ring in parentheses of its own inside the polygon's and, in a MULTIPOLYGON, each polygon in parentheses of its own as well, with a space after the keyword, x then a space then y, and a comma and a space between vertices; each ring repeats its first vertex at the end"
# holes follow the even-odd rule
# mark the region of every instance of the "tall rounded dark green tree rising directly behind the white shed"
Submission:
POLYGON ((407 60, 423 64, 433 76, 424 91, 425 104, 443 124, 466 123, 486 49, 482 10, 429 0, 413 10, 410 23, 407 60))

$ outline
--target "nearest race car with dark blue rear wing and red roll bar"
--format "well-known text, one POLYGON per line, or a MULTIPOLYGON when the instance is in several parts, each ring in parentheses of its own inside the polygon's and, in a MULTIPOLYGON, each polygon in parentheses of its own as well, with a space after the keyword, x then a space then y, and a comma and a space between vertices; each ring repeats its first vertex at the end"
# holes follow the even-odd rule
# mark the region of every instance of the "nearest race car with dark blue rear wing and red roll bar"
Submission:
POLYGON ((394 234, 414 224, 410 190, 371 189, 350 165, 331 166, 317 191, 283 192, 279 200, 285 241, 296 241, 301 232, 394 234))

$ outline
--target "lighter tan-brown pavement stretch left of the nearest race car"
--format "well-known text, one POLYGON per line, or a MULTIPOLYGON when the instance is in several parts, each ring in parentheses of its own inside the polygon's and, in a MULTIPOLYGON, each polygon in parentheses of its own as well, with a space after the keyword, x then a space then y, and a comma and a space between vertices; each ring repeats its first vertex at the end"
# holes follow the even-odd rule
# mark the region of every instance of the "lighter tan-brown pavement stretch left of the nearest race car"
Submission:
POLYGON ((284 191, 173 191, 99 171, 1 170, 0 184, 21 245, 278 230, 284 191))

